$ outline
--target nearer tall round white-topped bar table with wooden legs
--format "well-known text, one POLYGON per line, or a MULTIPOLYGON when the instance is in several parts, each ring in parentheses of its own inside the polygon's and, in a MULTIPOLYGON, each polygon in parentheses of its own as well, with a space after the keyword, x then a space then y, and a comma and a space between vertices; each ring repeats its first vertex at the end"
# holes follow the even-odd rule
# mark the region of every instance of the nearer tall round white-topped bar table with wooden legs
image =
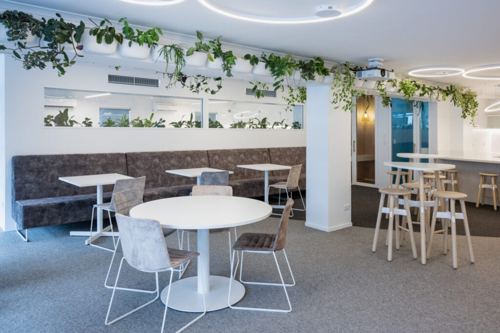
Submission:
MULTIPOLYGON (((412 163, 412 162, 383 162, 383 165, 397 168, 396 184, 399 184, 399 177, 401 169, 415 170, 418 172, 418 183, 420 193, 423 192, 423 171, 434 171, 435 179, 439 179, 439 170, 453 169, 455 166, 453 164, 442 164, 442 163, 412 163)), ((438 191, 441 190, 440 182, 436 181, 436 188, 438 191)), ((425 218, 424 203, 425 196, 420 195, 420 221, 423 221, 422 225, 427 223, 425 218)), ((426 263, 426 253, 425 253, 425 228, 420 228, 420 256, 421 263, 425 265, 426 263)))

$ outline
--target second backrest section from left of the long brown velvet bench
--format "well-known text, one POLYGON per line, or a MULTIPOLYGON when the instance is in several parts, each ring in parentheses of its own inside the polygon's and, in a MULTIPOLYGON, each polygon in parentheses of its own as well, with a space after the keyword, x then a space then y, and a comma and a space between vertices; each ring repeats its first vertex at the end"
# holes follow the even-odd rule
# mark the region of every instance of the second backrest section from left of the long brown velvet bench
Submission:
POLYGON ((145 188, 196 184, 196 178, 173 175, 165 170, 206 168, 206 150, 126 153, 128 176, 146 176, 145 188))

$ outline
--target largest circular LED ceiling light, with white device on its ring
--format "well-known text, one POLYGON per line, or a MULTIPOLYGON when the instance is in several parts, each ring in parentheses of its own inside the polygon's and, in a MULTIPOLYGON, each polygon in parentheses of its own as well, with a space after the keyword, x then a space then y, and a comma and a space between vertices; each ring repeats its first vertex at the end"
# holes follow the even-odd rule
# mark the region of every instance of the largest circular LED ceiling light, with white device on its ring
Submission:
POLYGON ((336 5, 322 5, 316 8, 315 15, 309 16, 265 16, 224 8, 223 6, 213 3, 213 0, 198 1, 208 9, 228 17, 251 22, 274 24, 299 24, 329 21, 332 19, 354 14, 360 10, 363 10, 371 2, 373 2, 373 0, 359 0, 355 4, 346 7, 339 7, 336 5))

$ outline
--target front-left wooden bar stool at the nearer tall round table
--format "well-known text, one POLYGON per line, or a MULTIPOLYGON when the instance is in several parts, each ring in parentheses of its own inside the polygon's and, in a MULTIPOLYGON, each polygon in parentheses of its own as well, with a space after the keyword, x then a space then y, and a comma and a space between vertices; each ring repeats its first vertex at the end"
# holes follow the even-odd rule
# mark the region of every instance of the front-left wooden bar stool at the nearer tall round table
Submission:
POLYGON ((399 218, 397 218, 395 221, 395 239, 396 239, 396 249, 399 250, 399 230, 403 229, 409 232, 410 236, 410 242, 411 242, 411 251, 413 252, 413 258, 416 259, 416 246, 415 246, 415 239, 413 238, 413 225, 411 222, 411 215, 409 213, 409 196, 411 194, 410 191, 408 190, 402 190, 402 189, 397 189, 397 188, 381 188, 378 190, 378 192, 381 193, 380 195, 380 205, 378 206, 378 215, 376 218, 376 225, 375 225, 375 235, 373 236, 373 246, 371 247, 371 251, 375 252, 376 250, 376 243, 378 239, 378 231, 380 230, 380 220, 382 219, 382 214, 383 213, 388 213, 389 214, 389 226, 387 228, 387 235, 388 235, 388 250, 387 250, 387 260, 391 261, 392 260, 392 224, 394 222, 394 217, 395 216, 404 216, 406 219, 406 222, 408 224, 408 228, 402 228, 399 225, 399 218), (383 207, 383 202, 385 199, 385 195, 388 195, 389 199, 389 205, 388 207, 383 207), (402 196, 404 200, 404 209, 399 209, 399 201, 398 201, 398 196, 402 196), (395 203, 394 203, 395 199, 395 203))

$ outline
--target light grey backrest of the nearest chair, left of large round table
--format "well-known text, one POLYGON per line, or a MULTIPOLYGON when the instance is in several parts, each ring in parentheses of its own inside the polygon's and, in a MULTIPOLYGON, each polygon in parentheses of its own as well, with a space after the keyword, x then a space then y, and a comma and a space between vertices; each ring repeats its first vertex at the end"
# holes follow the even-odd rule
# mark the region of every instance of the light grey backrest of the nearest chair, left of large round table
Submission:
POLYGON ((116 214, 123 257, 128 265, 145 272, 171 267, 161 226, 155 220, 134 219, 116 214))

